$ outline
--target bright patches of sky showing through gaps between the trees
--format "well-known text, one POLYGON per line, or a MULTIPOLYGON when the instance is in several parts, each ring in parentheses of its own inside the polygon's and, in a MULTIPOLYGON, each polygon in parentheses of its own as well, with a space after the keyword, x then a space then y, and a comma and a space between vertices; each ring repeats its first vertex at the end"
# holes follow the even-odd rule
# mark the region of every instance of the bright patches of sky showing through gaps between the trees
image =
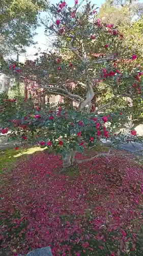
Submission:
MULTIPOLYGON (((78 0, 80 3, 80 0, 78 0)), ((59 3, 60 0, 51 0, 50 1, 52 4, 56 4, 59 3)), ((68 4, 68 6, 73 6, 74 5, 74 0, 65 0, 65 2, 68 4)), ((91 3, 96 4, 97 7, 100 7, 103 3, 104 0, 91 0, 91 3)), ((41 17, 44 17, 45 13, 41 14, 41 17)), ((35 36, 34 40, 38 42, 38 44, 36 45, 36 48, 40 47, 42 50, 46 50, 48 48, 48 42, 46 39, 46 36, 44 35, 44 26, 39 27, 36 32, 38 33, 38 35, 35 36)), ((37 50, 32 46, 30 48, 26 48, 26 52, 27 52, 27 58, 29 59, 34 59, 35 56, 33 56, 37 50)), ((24 61, 24 56, 19 56, 19 60, 20 61, 24 61)))

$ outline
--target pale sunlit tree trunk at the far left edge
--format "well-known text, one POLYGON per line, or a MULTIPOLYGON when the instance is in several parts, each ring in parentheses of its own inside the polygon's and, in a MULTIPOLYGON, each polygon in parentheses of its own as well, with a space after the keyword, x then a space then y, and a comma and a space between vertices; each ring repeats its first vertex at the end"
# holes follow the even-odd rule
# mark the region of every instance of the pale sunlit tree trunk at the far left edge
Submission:
POLYGON ((0 74, 0 93, 5 93, 6 95, 9 92, 10 88, 10 76, 4 73, 0 74))

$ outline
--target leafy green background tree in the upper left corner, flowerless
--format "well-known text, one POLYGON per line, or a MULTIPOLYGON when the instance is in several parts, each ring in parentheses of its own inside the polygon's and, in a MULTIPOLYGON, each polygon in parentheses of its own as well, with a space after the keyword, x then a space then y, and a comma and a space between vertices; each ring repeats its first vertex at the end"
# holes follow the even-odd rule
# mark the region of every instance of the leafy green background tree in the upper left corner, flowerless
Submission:
MULTIPOLYGON (((35 44, 33 38, 39 24, 38 15, 46 9, 44 0, 4 0, 0 4, 0 70, 1 90, 8 93, 10 77, 6 74, 6 56, 20 54, 23 47, 35 44), (7 88, 7 89, 6 89, 7 88)), ((17 75, 18 76, 18 75, 17 75)))

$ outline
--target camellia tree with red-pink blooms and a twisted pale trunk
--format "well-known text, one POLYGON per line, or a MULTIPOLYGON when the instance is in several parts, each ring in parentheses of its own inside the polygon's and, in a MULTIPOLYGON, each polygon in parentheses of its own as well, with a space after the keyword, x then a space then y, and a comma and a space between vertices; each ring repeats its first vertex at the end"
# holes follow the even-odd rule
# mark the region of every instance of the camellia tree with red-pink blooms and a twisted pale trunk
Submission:
MULTIPOLYGON (((49 7, 52 19, 47 18, 45 31, 55 36, 54 53, 44 52, 36 61, 28 61, 25 65, 11 63, 5 67, 11 75, 16 73, 36 81, 33 91, 44 90, 48 94, 68 97, 78 103, 78 109, 62 106, 56 110, 50 106, 39 109, 26 102, 17 107, 19 103, 15 100, 3 96, 1 99, 1 133, 6 134, 10 129, 13 131, 11 139, 18 137, 28 143, 36 142, 49 153, 61 154, 64 169, 74 163, 76 152, 83 153, 84 148, 100 143, 101 138, 110 139, 112 146, 139 139, 134 130, 126 135, 115 134, 116 127, 130 117, 128 104, 116 112, 108 109, 119 99, 141 97, 143 73, 137 65, 139 56, 136 52, 125 51, 124 38, 118 29, 112 24, 101 23, 94 6, 83 5, 83 2, 78 4, 75 0, 73 8, 66 2, 49 7), (61 54, 63 48, 67 49, 67 56, 61 54), (134 62, 134 68, 128 65, 124 70, 123 59, 134 62), (71 83, 77 89, 82 87, 83 95, 76 94, 71 83), (99 103, 91 112, 96 94, 107 89, 110 96, 105 104, 99 103)), ((105 155, 101 153, 95 157, 105 155)))

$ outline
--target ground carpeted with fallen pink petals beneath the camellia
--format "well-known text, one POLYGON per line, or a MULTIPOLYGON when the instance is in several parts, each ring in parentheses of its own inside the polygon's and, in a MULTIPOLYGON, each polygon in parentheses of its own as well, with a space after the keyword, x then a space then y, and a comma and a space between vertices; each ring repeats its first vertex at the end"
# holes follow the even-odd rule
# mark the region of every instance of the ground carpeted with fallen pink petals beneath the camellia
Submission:
POLYGON ((114 151, 60 175, 60 156, 38 150, 1 151, 0 255, 142 255, 141 162, 114 151))

